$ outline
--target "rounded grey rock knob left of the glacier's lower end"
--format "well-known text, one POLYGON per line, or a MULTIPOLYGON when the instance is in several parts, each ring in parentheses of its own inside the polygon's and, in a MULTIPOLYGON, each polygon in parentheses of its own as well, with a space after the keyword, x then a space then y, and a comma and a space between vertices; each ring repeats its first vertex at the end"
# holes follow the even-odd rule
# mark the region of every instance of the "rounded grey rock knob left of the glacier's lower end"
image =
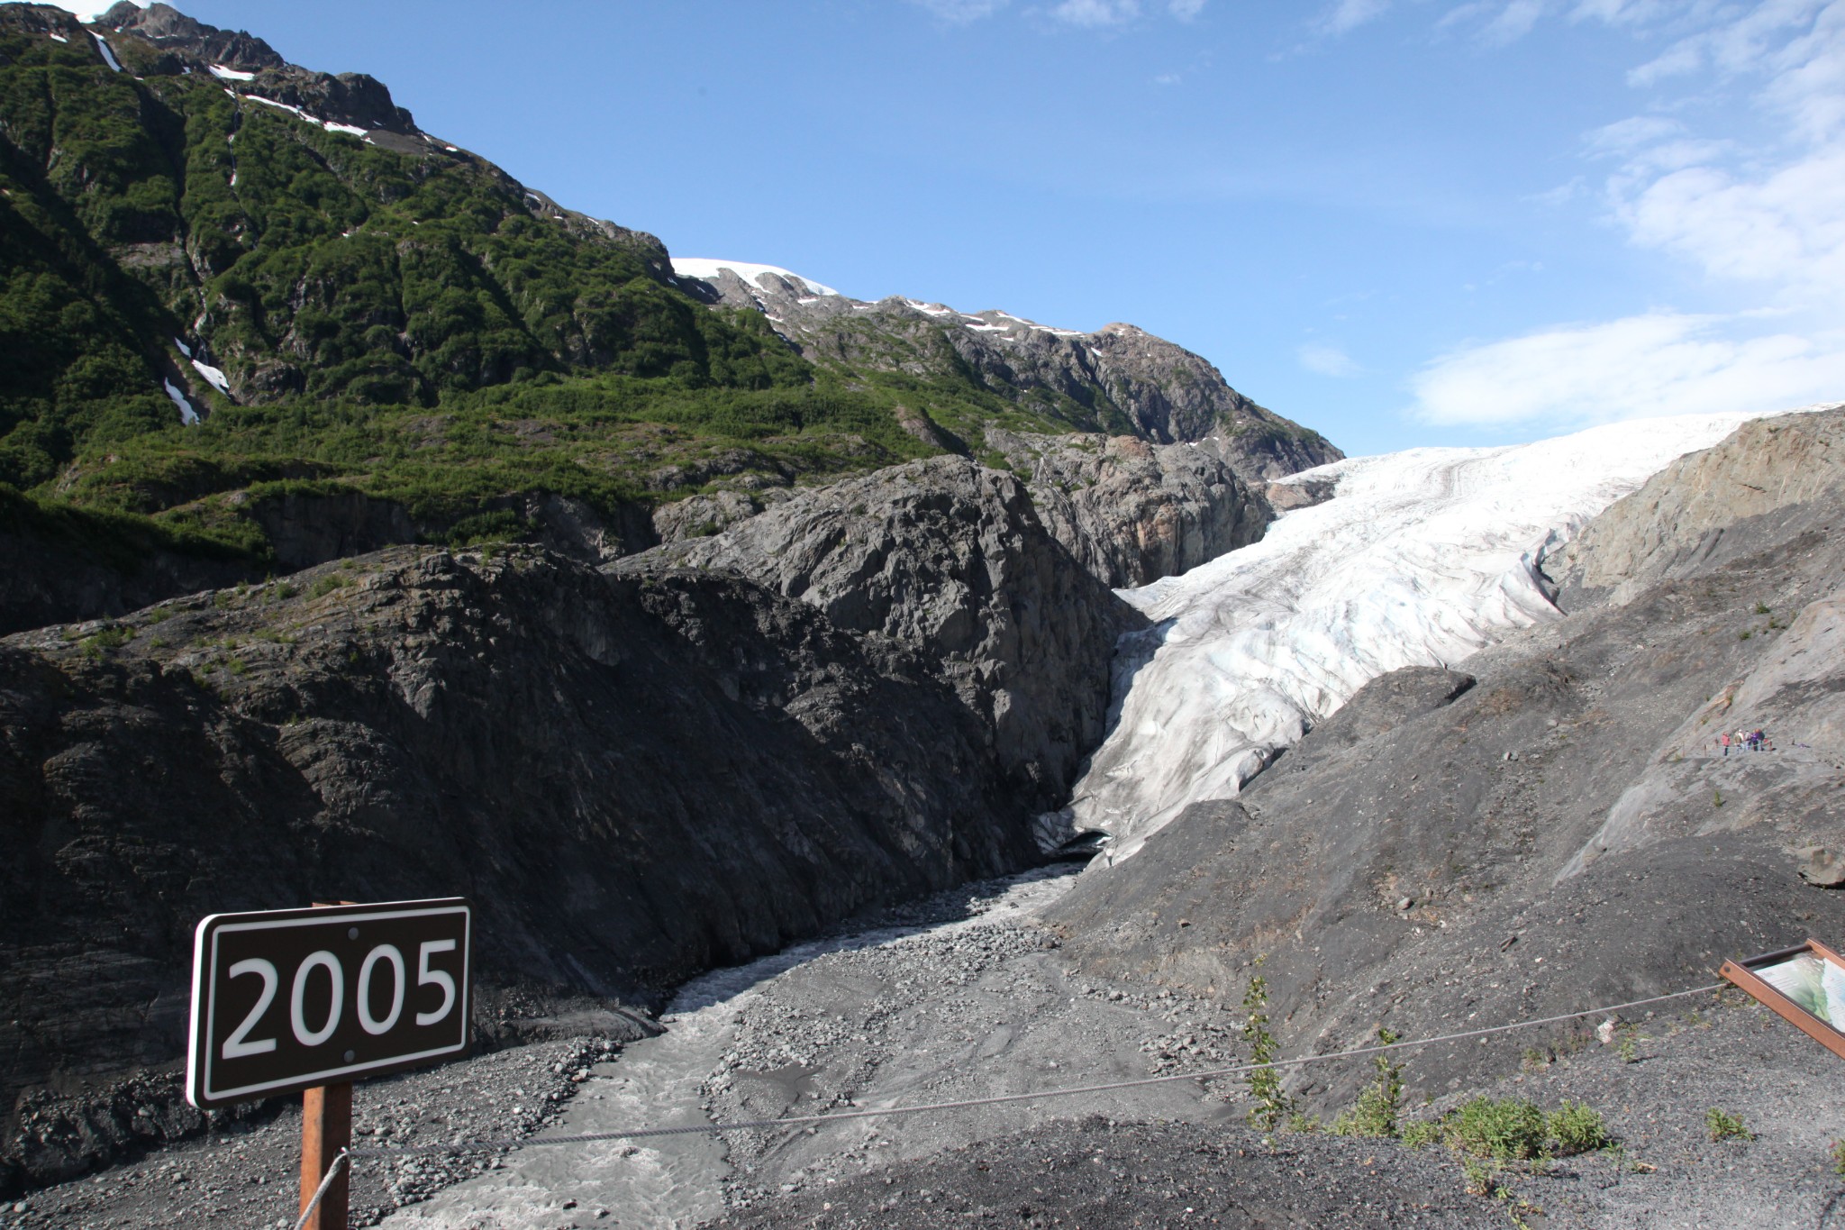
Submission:
POLYGON ((1114 638, 1137 616, 1039 518, 1026 485, 932 457, 797 494, 627 575, 721 570, 926 655, 1037 810, 1101 739, 1114 638))

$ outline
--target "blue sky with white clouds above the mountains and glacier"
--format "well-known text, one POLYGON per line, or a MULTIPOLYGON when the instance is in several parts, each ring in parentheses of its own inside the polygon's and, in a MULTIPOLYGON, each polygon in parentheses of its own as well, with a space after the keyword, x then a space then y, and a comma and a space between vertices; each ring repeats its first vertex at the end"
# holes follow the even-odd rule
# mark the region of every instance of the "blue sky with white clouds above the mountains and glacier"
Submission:
POLYGON ((177 7, 675 254, 1131 321, 1354 454, 1845 398, 1845 0, 177 7))

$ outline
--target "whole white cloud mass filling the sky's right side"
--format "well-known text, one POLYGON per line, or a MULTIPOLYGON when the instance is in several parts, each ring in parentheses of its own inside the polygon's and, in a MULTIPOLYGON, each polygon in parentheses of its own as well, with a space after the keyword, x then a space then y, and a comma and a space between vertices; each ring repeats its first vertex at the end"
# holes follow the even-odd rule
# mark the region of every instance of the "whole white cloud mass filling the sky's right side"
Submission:
MULTIPOLYGON (((1517 31, 1524 18, 1494 7, 1517 31)), ((1467 6, 1469 18, 1485 11, 1467 6)), ((1627 242, 1683 260, 1731 306, 1463 347, 1415 374, 1411 413, 1561 432, 1845 396, 1845 0, 1581 0, 1570 17, 1681 33, 1627 74, 1655 92, 1646 111, 1585 133, 1583 153, 1614 162, 1600 194, 1627 242), (1701 28, 1683 33, 1692 22, 1701 28), (1729 101, 1738 96, 1755 114, 1729 101), (1707 105, 1720 98, 1721 109, 1707 105)))

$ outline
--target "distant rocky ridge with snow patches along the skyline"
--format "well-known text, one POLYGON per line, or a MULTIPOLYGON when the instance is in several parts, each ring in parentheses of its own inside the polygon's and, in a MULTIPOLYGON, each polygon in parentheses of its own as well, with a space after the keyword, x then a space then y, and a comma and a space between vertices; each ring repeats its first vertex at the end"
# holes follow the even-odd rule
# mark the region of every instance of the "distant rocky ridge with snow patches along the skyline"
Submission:
POLYGON ((865 302, 773 271, 745 280, 720 267, 705 278, 681 275, 679 284, 708 302, 764 312, 815 363, 972 374, 987 391, 1055 419, 1155 444, 1199 443, 1251 483, 1345 455, 1251 402, 1207 360, 1133 325, 1081 332, 899 295, 865 302))

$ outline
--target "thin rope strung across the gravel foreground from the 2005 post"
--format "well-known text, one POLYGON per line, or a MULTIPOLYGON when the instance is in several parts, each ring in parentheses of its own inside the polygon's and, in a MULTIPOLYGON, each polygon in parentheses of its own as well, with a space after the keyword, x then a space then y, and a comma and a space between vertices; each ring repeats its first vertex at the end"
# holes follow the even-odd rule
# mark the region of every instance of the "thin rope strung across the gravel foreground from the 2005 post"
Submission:
MULTIPOLYGON (((843 1123, 847 1119, 878 1119, 887 1116, 902 1114, 928 1114, 935 1110, 967 1110, 972 1106, 998 1106, 1002 1103, 1024 1103, 1041 1101, 1044 1097, 1074 1097, 1079 1094, 1109 1094, 1114 1090, 1133 1090, 1148 1084, 1170 1084, 1173 1081, 1208 1081, 1212 1077, 1232 1077, 1260 1068, 1304 1068, 1308 1064, 1330 1064, 1347 1059, 1358 1059, 1363 1055, 1376 1055, 1380 1051, 1402 1051, 1419 1046, 1437 1046, 1441 1042, 1465 1042, 1469 1038, 1485 1038, 1489 1035, 1509 1033, 1513 1029, 1535 1029, 1537 1025, 1555 1025, 1559 1022, 1579 1020, 1583 1016, 1600 1016, 1603 1012, 1622 1012, 1627 1009, 1642 1009, 1649 1003, 1666 1003, 1668 999, 1684 999, 1688 996, 1705 996, 1714 990, 1721 990, 1727 983, 1710 983, 1708 987, 1692 987, 1690 990, 1673 990, 1666 996, 1651 996, 1648 999, 1631 999, 1627 1003, 1611 1003, 1598 1009, 1583 1009, 1581 1012, 1563 1012, 1561 1016, 1542 1016, 1528 1022, 1513 1022, 1509 1025, 1487 1025, 1483 1029, 1463 1029, 1459 1033, 1435 1035, 1432 1038, 1406 1038, 1402 1042, 1378 1042, 1373 1046, 1352 1047, 1351 1051, 1332 1051, 1330 1055, 1303 1055, 1301 1059, 1277 1059, 1268 1064, 1236 1064, 1234 1068, 1212 1068, 1207 1071, 1179 1071, 1164 1077, 1140 1077, 1135 1081, 1111 1081, 1107 1084, 1077 1084, 1057 1090, 1033 1090, 1030 1094, 998 1094, 993 1097, 969 1097, 963 1101, 948 1103, 922 1103, 915 1106, 871 1106, 862 1110, 836 1110, 832 1114, 810 1114, 810 1116, 792 1116, 786 1119, 747 1119, 742 1123, 699 1123, 694 1127, 642 1127, 622 1132, 587 1132, 581 1136, 539 1136, 526 1140, 480 1140, 452 1145, 402 1145, 395 1149, 351 1149, 339 1154, 341 1160, 352 1158, 399 1158, 413 1156, 423 1153, 498 1153, 502 1149, 518 1149, 522 1145, 579 1145, 596 1143, 611 1140, 642 1140, 653 1136, 694 1136, 694 1134, 718 1134, 718 1132, 758 1132, 764 1129, 784 1129, 784 1127, 804 1127, 814 1123, 843 1123)), ((338 1164, 336 1164, 338 1165, 338 1164)), ((332 1175, 332 1171, 328 1171, 332 1175)), ((321 1184, 325 1188, 325 1184, 321 1184)), ((295 1230, 301 1230, 299 1224, 295 1230)))

